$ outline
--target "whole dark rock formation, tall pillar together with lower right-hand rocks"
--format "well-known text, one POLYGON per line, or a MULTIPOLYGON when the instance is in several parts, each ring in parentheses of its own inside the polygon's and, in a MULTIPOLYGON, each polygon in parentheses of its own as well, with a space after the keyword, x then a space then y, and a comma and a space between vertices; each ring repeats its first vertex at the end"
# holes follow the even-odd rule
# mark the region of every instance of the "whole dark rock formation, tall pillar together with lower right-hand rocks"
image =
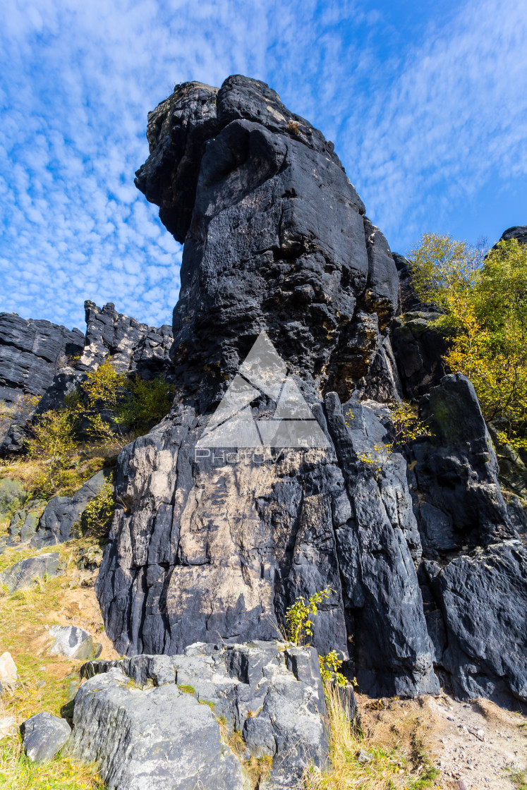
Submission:
MULTIPOLYGON (((119 456, 96 587, 115 648, 273 640, 297 596, 330 586, 312 643, 361 690, 433 693, 439 673, 461 696, 527 700, 527 559, 476 395, 394 358, 397 266, 333 144, 240 76, 177 85, 147 137, 137 187, 184 243, 177 394, 119 456), (328 446, 197 451, 262 331, 328 446), (360 456, 407 386, 435 436, 376 472, 360 456)), ((246 405, 275 408, 260 392, 246 405)))

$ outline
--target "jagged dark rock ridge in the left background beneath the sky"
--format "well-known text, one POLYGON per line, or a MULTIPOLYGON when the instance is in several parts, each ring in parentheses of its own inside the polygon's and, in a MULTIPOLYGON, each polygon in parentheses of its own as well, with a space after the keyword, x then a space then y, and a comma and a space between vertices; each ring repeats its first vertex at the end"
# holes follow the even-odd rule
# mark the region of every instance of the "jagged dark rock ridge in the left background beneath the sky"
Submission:
POLYGON ((25 321, 0 313, 0 453, 21 450, 24 423, 35 413, 59 408, 87 371, 111 357, 119 372, 171 381, 171 327, 141 324, 118 313, 112 303, 102 309, 85 302, 86 335, 48 321, 25 321))

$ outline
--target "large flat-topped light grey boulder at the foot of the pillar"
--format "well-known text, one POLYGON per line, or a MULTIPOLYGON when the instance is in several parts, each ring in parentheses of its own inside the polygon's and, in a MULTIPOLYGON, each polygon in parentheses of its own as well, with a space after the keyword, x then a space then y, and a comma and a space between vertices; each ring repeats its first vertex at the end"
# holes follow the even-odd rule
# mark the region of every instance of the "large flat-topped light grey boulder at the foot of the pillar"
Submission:
POLYGON ((326 762, 314 649, 198 643, 181 656, 91 662, 81 672, 88 680, 77 691, 68 748, 77 761, 98 759, 115 790, 249 790, 251 757, 270 763, 265 787, 285 790, 298 787, 308 763, 326 762))

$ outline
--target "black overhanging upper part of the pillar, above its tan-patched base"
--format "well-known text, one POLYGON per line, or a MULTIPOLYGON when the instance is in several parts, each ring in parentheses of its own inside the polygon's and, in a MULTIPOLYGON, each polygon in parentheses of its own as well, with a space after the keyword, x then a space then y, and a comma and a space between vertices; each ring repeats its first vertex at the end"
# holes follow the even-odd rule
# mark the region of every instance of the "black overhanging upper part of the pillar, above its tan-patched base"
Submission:
POLYGON ((171 351, 182 394, 210 408, 265 329, 312 397, 347 398, 393 315, 397 270, 333 145, 246 77, 217 94, 179 86, 148 137, 137 186, 185 241, 171 351))

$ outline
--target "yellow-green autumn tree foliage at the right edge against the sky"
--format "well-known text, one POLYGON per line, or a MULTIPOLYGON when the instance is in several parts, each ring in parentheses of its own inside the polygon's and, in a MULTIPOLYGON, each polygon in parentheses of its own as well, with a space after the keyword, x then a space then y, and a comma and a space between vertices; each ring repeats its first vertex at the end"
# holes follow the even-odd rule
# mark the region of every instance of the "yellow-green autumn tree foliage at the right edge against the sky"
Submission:
POLYGON ((450 371, 468 376, 487 420, 518 449, 527 445, 527 246, 481 249, 425 234, 414 250, 412 282, 444 310, 436 322, 450 340, 450 371))

